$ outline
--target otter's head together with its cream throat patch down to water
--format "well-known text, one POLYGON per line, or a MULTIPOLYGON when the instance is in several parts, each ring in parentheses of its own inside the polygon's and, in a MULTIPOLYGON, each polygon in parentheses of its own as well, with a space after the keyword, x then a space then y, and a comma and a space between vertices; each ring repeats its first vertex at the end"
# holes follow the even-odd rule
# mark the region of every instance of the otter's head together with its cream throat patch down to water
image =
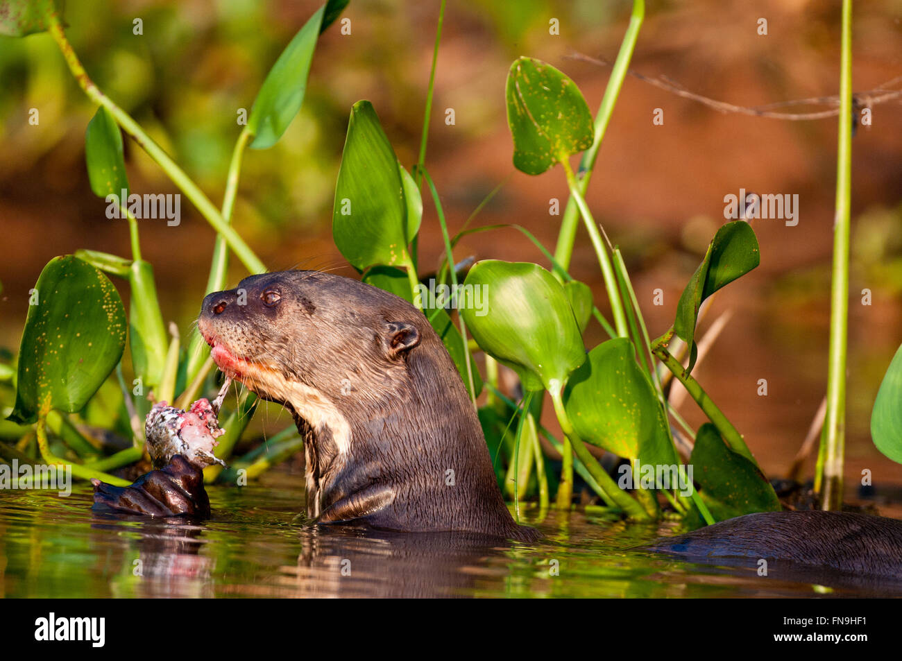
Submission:
POLYGON ((198 329, 219 369, 285 405, 306 434, 311 516, 347 463, 352 436, 370 436, 399 399, 426 399, 412 386, 411 355, 441 343, 407 301, 318 271, 255 275, 210 294, 198 329))

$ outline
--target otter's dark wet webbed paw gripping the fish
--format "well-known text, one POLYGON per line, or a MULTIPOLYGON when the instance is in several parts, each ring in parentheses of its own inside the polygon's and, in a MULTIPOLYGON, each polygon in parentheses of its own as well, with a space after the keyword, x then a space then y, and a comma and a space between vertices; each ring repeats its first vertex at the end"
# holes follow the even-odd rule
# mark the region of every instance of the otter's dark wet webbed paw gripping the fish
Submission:
POLYGON ((172 456, 160 470, 144 473, 131 486, 94 484, 94 510, 124 512, 148 517, 210 516, 210 500, 204 489, 204 473, 181 454, 172 456))

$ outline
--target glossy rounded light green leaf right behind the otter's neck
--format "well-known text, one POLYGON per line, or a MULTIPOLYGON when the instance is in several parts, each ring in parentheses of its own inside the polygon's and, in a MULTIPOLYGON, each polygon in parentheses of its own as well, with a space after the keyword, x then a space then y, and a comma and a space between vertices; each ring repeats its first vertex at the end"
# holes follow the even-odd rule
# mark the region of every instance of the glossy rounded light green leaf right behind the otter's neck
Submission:
POLYGON ((461 314, 476 343, 520 375, 525 390, 556 390, 585 361, 583 337, 564 288, 529 262, 476 262, 465 288, 481 288, 483 306, 461 314))

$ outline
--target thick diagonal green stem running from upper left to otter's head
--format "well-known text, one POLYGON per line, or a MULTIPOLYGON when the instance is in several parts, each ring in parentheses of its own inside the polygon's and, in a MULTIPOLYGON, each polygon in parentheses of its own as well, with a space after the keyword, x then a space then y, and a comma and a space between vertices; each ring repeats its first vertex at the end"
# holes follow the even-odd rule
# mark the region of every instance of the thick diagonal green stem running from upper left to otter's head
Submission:
POLYGON ((216 232, 226 238, 226 243, 229 244, 229 247, 238 256, 238 259, 244 262, 244 266, 248 271, 252 273, 265 272, 266 267, 263 265, 263 262, 254 254, 250 246, 244 243, 244 239, 235 232, 235 229, 226 224, 223 217, 220 216, 219 210, 210 202, 209 197, 204 195, 197 184, 189 178, 184 170, 179 168, 175 161, 172 161, 169 154, 163 151, 160 145, 153 142, 152 138, 133 120, 131 115, 128 115, 119 106, 116 106, 113 100, 101 92, 94 81, 88 77, 87 71, 81 65, 78 56, 66 39, 66 33, 60 24, 60 17, 57 15, 52 3, 45 2, 43 12, 48 32, 51 33, 53 41, 56 41, 57 46, 60 48, 69 71, 72 72, 72 75, 78 81, 78 86, 82 88, 88 98, 109 110, 110 114, 115 118, 116 124, 119 124, 122 130, 133 138, 134 142, 137 142, 144 151, 147 151, 153 161, 157 162, 172 182, 198 208, 201 216, 207 219, 207 222, 212 225, 216 232))

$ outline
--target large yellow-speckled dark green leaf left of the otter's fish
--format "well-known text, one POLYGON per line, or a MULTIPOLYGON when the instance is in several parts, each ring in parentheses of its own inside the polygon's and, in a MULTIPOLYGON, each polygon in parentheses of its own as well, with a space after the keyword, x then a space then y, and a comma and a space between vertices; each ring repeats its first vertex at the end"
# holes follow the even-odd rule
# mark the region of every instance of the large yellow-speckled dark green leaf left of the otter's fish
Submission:
POLYGON ((15 409, 28 424, 51 409, 84 408, 115 368, 125 346, 125 310, 113 283, 72 255, 48 262, 28 308, 15 409))

